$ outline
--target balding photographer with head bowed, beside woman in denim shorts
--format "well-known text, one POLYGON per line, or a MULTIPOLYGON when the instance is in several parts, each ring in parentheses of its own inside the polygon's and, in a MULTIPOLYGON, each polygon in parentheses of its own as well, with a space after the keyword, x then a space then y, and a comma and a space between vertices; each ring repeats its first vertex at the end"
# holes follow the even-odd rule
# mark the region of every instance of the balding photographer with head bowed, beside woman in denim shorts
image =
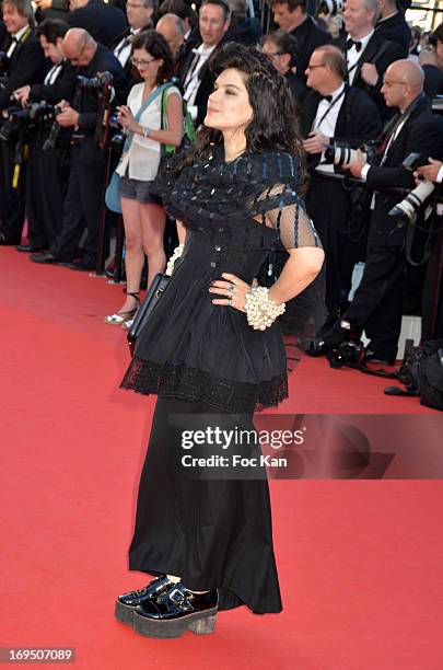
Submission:
MULTIPOLYGON (((62 101, 57 122, 63 128, 73 128, 73 147, 68 193, 65 199, 61 231, 45 254, 32 254, 35 263, 69 263, 72 269, 91 270, 97 258, 97 233, 103 206, 106 154, 100 148, 97 131, 102 128, 103 101, 108 84, 102 73, 113 76, 116 96, 125 89, 124 71, 114 54, 98 45, 82 28, 71 28, 62 43, 65 55, 72 66, 80 68, 72 106, 62 101), (93 79, 92 79, 93 78, 93 79), (84 255, 74 261, 84 228, 88 234, 84 255)), ((106 102, 106 101, 105 101, 106 102)))

